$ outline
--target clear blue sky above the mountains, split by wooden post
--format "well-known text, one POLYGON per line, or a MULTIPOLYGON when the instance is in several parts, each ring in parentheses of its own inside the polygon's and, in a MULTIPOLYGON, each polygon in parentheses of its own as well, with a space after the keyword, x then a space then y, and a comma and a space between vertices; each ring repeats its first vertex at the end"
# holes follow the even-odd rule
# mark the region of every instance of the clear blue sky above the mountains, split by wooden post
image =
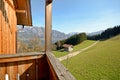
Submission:
MULTIPOLYGON (((45 25, 45 0, 31 0, 33 25, 45 25)), ((53 0, 52 28, 95 32, 120 25, 120 0, 53 0)))

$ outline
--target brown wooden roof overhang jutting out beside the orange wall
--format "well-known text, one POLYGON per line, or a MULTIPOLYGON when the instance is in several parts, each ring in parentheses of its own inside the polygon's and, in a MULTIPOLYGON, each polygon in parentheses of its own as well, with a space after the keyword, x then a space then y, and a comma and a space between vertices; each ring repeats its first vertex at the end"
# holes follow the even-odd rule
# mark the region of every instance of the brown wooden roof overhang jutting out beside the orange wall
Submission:
POLYGON ((17 15, 18 25, 32 25, 30 0, 13 0, 17 15))

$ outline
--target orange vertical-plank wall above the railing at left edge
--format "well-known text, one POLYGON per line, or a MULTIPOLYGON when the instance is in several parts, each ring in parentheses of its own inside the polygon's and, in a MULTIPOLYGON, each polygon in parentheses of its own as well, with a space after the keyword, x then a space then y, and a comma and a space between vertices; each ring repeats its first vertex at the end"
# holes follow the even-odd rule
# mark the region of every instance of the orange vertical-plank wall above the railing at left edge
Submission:
POLYGON ((13 0, 0 0, 0 54, 16 53, 16 25, 13 0))

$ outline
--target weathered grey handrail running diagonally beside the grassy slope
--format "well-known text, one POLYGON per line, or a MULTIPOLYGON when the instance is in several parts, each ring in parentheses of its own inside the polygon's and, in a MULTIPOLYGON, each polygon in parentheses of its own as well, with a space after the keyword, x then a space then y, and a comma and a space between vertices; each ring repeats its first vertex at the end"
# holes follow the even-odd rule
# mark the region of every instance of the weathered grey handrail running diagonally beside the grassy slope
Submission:
MULTIPOLYGON (((59 80, 76 80, 74 76, 56 59, 52 53, 46 54, 47 61, 59 80)), ((53 76, 55 77, 55 76, 53 76)))

